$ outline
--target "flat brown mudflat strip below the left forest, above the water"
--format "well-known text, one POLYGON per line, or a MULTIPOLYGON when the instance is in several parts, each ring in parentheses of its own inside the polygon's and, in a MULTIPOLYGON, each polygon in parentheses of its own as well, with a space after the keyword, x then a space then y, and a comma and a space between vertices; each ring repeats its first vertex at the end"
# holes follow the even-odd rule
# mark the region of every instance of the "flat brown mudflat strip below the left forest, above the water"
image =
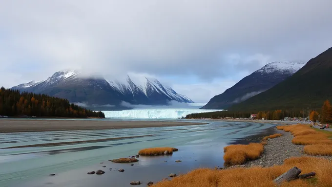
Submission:
POLYGON ((95 120, 33 120, 1 119, 0 133, 4 132, 37 132, 37 131, 75 131, 128 129, 145 127, 172 127, 187 125, 204 125, 183 121, 95 121, 95 120))

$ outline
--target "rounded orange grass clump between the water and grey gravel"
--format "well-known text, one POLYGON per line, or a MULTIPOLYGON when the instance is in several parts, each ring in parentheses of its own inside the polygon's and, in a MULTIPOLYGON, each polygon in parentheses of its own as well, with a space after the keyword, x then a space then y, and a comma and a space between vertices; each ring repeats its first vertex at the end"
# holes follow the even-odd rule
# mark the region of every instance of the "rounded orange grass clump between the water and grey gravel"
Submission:
POLYGON ((224 148, 226 165, 239 165, 247 159, 255 160, 263 153, 263 145, 250 143, 249 145, 230 145, 224 148))

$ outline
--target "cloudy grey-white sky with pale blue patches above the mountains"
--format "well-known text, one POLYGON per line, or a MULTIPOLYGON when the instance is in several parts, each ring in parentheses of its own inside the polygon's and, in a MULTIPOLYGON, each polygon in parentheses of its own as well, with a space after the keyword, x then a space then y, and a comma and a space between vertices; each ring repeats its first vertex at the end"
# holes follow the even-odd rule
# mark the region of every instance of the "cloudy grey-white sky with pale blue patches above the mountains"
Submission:
POLYGON ((0 0, 0 85, 153 76, 199 103, 332 47, 331 0, 0 0))

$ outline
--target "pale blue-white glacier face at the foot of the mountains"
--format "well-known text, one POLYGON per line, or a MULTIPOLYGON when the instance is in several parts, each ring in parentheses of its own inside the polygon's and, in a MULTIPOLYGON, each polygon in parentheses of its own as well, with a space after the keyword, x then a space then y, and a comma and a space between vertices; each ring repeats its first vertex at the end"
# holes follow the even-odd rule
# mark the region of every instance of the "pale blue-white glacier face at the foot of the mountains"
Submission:
POLYGON ((165 118, 179 119, 191 113, 217 112, 223 110, 204 109, 133 109, 124 111, 103 111, 106 118, 165 118))

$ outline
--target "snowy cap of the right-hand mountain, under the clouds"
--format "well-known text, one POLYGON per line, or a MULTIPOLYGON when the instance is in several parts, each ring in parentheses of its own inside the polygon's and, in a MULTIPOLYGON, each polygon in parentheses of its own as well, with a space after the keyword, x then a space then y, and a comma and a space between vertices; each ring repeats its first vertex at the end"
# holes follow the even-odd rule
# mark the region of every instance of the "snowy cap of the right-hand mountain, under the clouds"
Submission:
POLYGON ((272 72, 285 72, 294 74, 305 65, 304 62, 300 61, 275 61, 265 65, 263 68, 256 72, 270 74, 272 72))

